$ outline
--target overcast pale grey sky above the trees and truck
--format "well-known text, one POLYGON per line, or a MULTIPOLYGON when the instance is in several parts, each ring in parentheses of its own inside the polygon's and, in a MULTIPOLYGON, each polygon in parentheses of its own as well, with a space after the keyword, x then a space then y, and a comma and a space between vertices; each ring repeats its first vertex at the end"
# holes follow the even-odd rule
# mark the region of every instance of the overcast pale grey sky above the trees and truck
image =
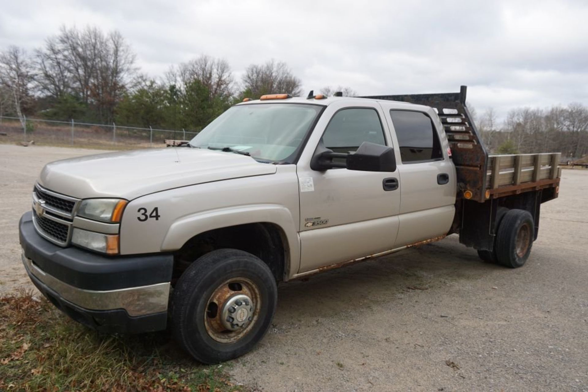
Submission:
POLYGON ((32 50, 59 26, 116 29, 161 76, 201 54, 235 76, 284 61, 304 91, 459 91, 478 113, 588 105, 588 1, 0 0, 0 50, 32 50))

